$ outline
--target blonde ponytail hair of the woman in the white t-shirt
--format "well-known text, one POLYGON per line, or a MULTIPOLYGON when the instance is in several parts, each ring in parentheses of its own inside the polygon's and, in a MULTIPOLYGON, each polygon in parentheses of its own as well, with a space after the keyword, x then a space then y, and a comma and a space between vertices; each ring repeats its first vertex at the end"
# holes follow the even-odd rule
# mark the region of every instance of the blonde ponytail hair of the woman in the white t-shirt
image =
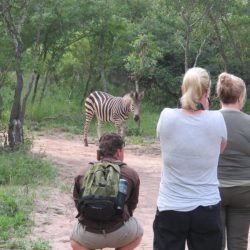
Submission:
POLYGON ((211 86, 208 72, 199 67, 189 69, 182 81, 181 106, 184 109, 197 109, 202 95, 209 92, 211 86))

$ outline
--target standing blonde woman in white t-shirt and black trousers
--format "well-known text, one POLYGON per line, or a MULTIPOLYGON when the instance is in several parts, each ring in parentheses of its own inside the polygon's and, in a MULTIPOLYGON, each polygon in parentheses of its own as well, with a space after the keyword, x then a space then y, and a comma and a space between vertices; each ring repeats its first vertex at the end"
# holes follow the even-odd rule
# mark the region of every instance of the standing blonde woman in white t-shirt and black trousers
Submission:
POLYGON ((181 109, 165 108, 157 124, 163 159, 154 250, 221 250, 217 166, 227 130, 219 111, 208 111, 210 78, 189 69, 181 109))

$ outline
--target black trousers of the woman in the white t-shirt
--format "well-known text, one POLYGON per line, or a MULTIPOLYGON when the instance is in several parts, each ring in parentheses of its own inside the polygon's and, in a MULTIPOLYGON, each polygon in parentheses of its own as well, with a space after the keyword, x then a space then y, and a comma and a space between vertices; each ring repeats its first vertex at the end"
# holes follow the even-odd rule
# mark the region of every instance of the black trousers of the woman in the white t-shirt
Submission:
POLYGON ((154 250, 221 250, 220 203, 188 212, 157 210, 153 223, 154 250))

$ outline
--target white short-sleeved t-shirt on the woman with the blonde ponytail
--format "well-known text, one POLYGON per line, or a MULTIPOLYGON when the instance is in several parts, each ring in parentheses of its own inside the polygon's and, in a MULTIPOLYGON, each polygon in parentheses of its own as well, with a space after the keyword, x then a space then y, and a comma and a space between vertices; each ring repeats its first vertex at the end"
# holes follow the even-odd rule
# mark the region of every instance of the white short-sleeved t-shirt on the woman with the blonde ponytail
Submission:
POLYGON ((165 108, 157 124, 162 151, 160 211, 191 211, 220 201, 217 166, 221 142, 227 139, 219 111, 186 114, 165 108))

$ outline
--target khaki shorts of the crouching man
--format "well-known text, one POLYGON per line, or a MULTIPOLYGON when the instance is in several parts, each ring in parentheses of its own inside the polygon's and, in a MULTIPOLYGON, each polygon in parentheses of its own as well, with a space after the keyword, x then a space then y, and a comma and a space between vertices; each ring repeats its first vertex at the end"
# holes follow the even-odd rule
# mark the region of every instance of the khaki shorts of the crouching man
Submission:
POLYGON ((130 217, 125 224, 114 232, 95 234, 88 232, 77 222, 73 228, 70 239, 89 249, 118 248, 129 244, 143 235, 143 228, 139 222, 130 217))

